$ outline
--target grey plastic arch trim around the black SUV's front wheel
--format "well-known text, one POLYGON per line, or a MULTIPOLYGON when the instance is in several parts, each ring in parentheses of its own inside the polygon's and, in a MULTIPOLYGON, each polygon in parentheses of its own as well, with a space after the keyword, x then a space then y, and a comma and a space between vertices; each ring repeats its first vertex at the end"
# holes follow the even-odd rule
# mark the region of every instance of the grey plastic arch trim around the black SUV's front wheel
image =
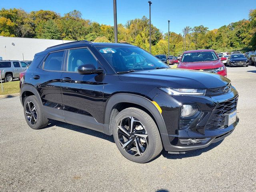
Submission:
MULTIPOLYGON (((156 122, 160 133, 167 134, 164 119, 152 101, 143 96, 128 93, 114 94, 107 100, 104 116, 104 131, 106 134, 112 135, 112 128, 110 126, 110 117, 113 115, 112 111, 114 109, 123 110, 128 107, 137 107, 147 112, 156 122)), ((114 114, 114 116, 117 114, 114 114)))

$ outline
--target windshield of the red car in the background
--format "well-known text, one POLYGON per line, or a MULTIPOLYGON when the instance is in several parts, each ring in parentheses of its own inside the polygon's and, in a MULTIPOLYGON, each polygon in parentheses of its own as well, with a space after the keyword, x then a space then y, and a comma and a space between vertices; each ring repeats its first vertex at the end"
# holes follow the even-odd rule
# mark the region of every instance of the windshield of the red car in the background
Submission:
POLYGON ((216 60, 218 60, 216 54, 212 51, 209 51, 209 52, 186 53, 183 55, 181 62, 200 62, 200 61, 216 61, 216 60))

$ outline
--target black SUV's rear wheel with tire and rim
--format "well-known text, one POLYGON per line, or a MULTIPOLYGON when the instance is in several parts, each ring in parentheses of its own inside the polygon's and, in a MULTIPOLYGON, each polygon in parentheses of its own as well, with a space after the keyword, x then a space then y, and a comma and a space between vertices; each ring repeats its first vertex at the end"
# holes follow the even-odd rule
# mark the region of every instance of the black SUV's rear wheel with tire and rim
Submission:
POLYGON ((41 104, 34 95, 28 96, 24 101, 24 116, 28 126, 32 129, 42 129, 48 125, 48 119, 44 116, 41 104), (34 111, 32 109, 29 111, 28 105, 34 106, 34 111))

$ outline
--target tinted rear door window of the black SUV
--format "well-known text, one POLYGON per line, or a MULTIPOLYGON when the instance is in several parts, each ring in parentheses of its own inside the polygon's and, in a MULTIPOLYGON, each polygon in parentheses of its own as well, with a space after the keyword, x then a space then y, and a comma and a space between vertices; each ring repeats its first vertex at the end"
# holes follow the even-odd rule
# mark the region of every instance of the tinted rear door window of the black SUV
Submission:
POLYGON ((61 71, 64 51, 53 52, 44 61, 44 69, 50 71, 61 71))

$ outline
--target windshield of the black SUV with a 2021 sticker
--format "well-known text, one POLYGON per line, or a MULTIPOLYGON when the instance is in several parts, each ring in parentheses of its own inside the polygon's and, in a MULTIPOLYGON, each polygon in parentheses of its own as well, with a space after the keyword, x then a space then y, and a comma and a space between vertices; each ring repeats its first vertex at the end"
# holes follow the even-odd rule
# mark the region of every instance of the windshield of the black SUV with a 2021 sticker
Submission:
POLYGON ((96 47, 116 72, 169 68, 164 62, 138 47, 96 47))

